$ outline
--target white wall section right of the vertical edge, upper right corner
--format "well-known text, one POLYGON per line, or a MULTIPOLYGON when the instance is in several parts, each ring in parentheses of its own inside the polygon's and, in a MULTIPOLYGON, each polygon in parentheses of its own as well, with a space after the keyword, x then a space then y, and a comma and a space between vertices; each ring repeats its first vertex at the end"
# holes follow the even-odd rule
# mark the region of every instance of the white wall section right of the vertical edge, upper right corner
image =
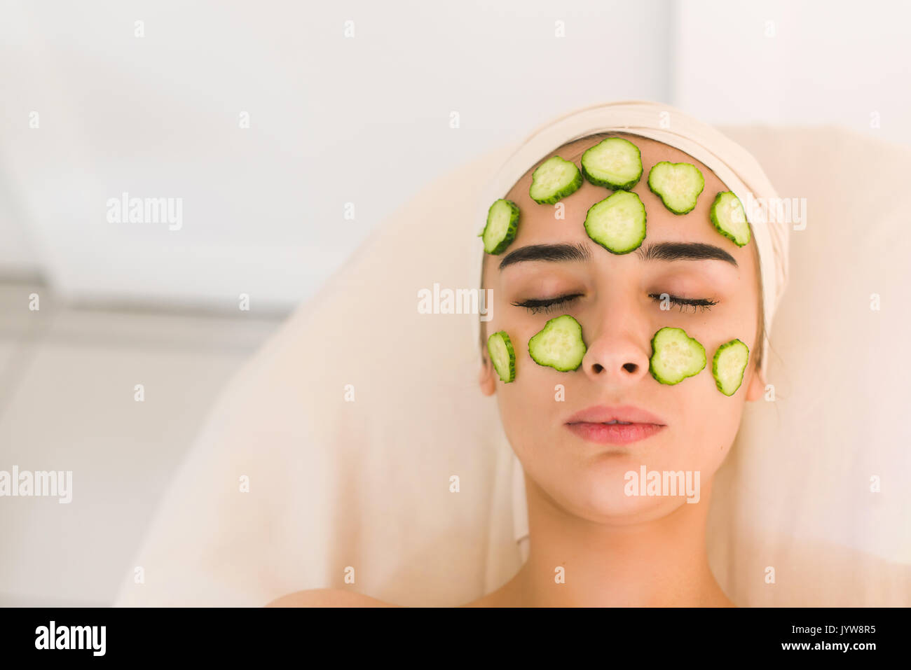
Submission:
POLYGON ((672 104, 710 123, 835 124, 911 145, 908 3, 674 5, 672 104))

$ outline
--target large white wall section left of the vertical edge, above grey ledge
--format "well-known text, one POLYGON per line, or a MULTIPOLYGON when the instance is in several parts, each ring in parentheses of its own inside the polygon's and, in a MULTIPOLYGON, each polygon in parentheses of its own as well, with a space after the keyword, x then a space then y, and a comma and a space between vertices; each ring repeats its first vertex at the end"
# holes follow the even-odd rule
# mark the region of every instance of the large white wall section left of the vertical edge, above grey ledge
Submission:
POLYGON ((467 158, 669 94, 666 2, 0 6, 0 273, 70 299, 291 308, 467 158), (123 191, 182 198, 182 228, 108 222, 123 191))

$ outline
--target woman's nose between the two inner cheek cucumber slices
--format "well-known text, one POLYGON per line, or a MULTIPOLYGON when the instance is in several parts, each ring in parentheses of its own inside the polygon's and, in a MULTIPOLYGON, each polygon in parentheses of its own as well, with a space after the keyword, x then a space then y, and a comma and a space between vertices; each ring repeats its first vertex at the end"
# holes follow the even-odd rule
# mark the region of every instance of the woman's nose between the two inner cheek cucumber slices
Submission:
POLYGON ((593 381, 630 385, 649 374, 650 340, 644 335, 648 327, 630 319, 608 316, 599 321, 593 340, 582 357, 582 369, 593 381))

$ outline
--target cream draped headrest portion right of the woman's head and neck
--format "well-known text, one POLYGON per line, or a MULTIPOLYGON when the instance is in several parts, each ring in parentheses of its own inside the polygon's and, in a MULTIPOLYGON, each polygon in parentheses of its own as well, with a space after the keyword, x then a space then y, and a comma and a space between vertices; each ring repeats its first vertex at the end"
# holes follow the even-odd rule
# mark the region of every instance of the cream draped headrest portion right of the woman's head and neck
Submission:
POLYGON ((771 333, 776 400, 747 403, 716 477, 711 567, 736 604, 911 604, 911 386, 896 348, 911 329, 911 149, 834 127, 721 130, 780 197, 806 198, 807 221, 771 333))

